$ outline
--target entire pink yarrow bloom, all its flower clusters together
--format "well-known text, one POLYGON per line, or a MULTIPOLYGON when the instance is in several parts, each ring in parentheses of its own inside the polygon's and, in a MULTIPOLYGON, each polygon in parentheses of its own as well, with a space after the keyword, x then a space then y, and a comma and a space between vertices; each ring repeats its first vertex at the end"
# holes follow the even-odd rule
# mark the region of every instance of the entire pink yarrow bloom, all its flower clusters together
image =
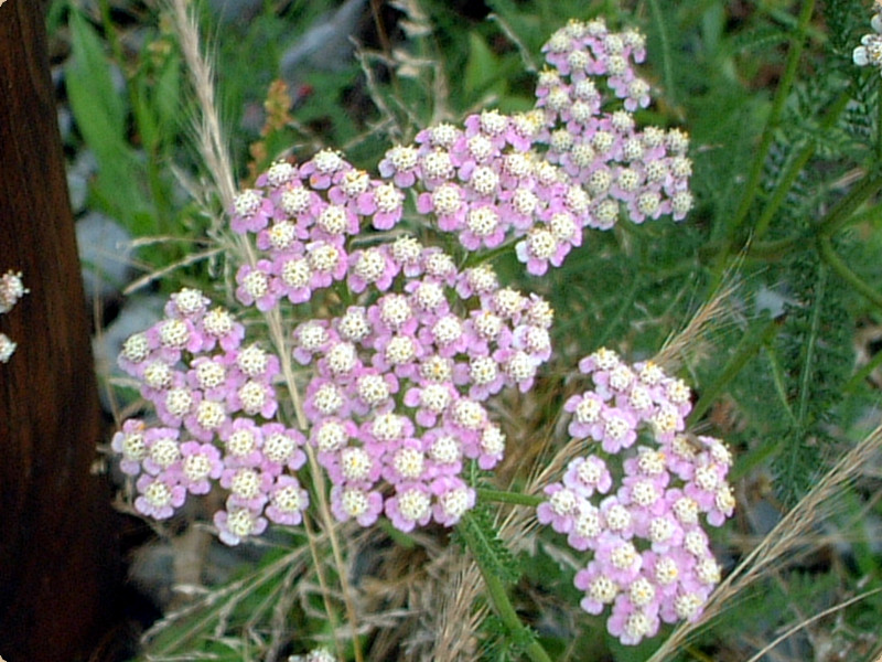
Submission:
MULTIPOLYGON (((236 545, 269 522, 300 524, 314 499, 329 499, 340 522, 370 526, 385 515, 404 533, 454 526, 475 506, 470 468, 492 470, 506 446, 487 404, 506 388, 531 388, 551 356, 553 321, 542 298, 502 286, 482 253, 514 245, 540 276, 587 231, 610 229, 620 215, 682 220, 692 204, 686 135, 634 118, 649 104, 633 68, 645 57, 643 36, 571 21, 544 51, 550 68, 531 111, 430 127, 390 149, 378 177, 330 149, 300 166, 278 161, 236 195, 238 303, 263 316, 306 305, 326 313, 281 321, 270 350, 246 340, 233 312, 185 288, 164 319, 126 341, 120 366, 158 418, 125 421, 111 444, 136 479, 138 512, 168 519, 215 483, 227 496, 214 524, 236 545), (476 266, 460 268, 399 231, 420 224, 454 233, 476 266), (305 382, 295 363, 311 367, 305 382)), ((689 409, 682 382, 650 363, 637 376, 603 350, 580 367, 600 391, 568 401, 570 431, 620 458, 623 487, 591 505, 611 474, 598 456, 580 458, 562 484, 546 487, 538 519, 595 552, 576 577, 583 606, 596 612, 620 596, 610 631, 636 643, 657 631, 659 613, 695 618, 719 579, 697 516, 708 512, 719 525, 732 514, 731 461, 716 440, 700 438, 699 453, 677 436, 689 409), (621 459, 643 424, 667 461, 644 446, 621 459), (671 474, 686 484, 669 484, 671 474)))

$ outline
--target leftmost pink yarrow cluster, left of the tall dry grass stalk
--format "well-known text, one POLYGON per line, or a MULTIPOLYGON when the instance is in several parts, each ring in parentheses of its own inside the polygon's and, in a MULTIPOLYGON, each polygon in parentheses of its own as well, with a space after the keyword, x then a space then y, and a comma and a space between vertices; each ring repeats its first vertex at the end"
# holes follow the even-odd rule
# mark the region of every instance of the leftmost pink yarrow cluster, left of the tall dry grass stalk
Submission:
POLYGON ((166 519, 187 494, 226 489, 214 522, 230 545, 268 520, 299 524, 309 503, 294 473, 305 438, 275 421, 279 360, 244 339, 243 324, 201 291, 172 295, 164 319, 129 337, 119 357, 159 425, 129 419, 111 441, 121 470, 137 478, 143 515, 166 519))

